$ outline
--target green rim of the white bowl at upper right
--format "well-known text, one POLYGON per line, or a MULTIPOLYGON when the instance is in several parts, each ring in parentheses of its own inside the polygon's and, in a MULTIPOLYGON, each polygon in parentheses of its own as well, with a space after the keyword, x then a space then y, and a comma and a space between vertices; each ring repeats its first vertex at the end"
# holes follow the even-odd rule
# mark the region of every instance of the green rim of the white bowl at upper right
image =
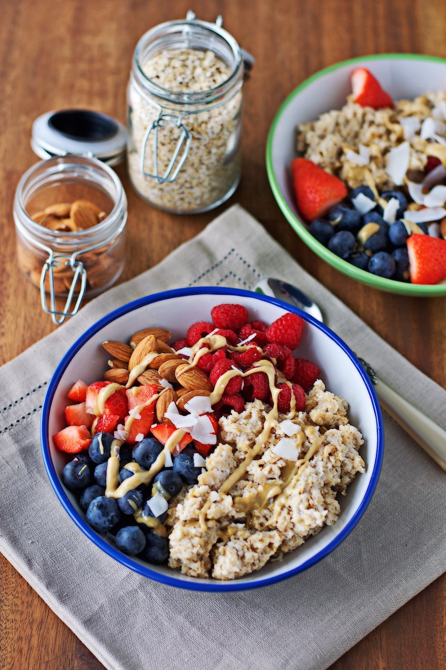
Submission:
POLYGON ((446 65, 446 58, 441 58, 439 56, 427 56, 425 54, 368 54, 367 56, 357 56, 356 58, 349 58, 348 60, 342 60, 338 63, 329 65, 322 70, 318 70, 303 82, 301 82, 296 88, 292 90, 286 96, 282 105, 274 115, 273 120, 271 121, 271 126, 269 127, 266 149, 265 149, 265 161, 266 161, 266 172, 269 181, 269 186, 273 192, 273 196, 278 206, 282 210, 288 223, 292 226, 294 231, 298 234, 300 239, 308 246, 310 249, 316 253, 323 261, 326 261, 329 265, 334 267, 338 272, 354 279, 355 281, 360 281, 360 283, 370 286, 374 289, 380 291, 387 291, 388 293, 395 293, 397 295, 413 295, 414 297, 441 297, 446 295, 446 286, 442 284, 412 284, 405 281, 397 281, 397 279, 384 279, 384 277, 378 277, 377 275, 372 275, 372 273, 367 272, 366 270, 361 270, 358 267, 355 267, 348 261, 339 258, 334 254, 330 249, 324 247, 322 243, 316 240, 312 236, 306 225, 294 214, 294 211, 286 201, 282 190, 280 189, 279 183, 275 176, 275 167, 273 165, 273 141, 275 137, 275 131, 277 130, 277 125, 279 125, 280 119, 284 114, 284 111, 290 105, 292 100, 302 92, 307 86, 312 84, 316 79, 339 70, 348 65, 358 65, 364 62, 373 62, 379 60, 419 60, 424 62, 439 63, 446 65))

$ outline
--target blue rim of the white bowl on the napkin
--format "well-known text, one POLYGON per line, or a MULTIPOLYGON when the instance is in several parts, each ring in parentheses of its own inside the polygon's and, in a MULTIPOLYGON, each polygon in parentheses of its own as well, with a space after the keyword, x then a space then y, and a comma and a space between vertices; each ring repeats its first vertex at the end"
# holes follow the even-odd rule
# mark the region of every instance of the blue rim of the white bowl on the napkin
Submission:
POLYGON ((78 528, 92 542, 94 542, 94 544, 97 547, 102 549, 102 551, 108 554, 108 556, 118 561, 118 563, 122 563, 122 565, 125 565, 125 567, 128 567, 134 572, 137 572, 143 577, 148 577, 156 582, 160 582, 161 584, 166 584, 167 586, 177 586, 179 588, 184 588, 187 590, 202 591, 202 592, 245 591, 251 588, 268 586, 269 584, 275 584, 275 582, 282 582, 282 580, 288 579, 298 574, 299 572, 303 572, 308 567, 311 567, 315 563, 318 563, 318 561, 320 561, 322 558, 326 557, 326 555, 328 555, 334 549, 336 549, 336 547, 340 545, 340 543, 347 537, 347 535, 350 534, 350 532, 354 529, 354 527, 356 526, 356 524, 366 511, 368 503, 370 502, 370 499, 372 498, 372 495, 376 488, 376 484, 378 483, 378 478, 382 466, 382 457, 384 452, 384 427, 382 425, 382 415, 378 403, 378 398, 376 397, 373 385, 370 379, 368 378, 368 375, 364 371, 364 368, 358 361, 358 358, 356 358, 352 350, 345 344, 345 342, 343 342, 343 340, 340 339, 340 337, 338 337, 338 335, 336 335, 336 333, 334 333, 330 328, 328 328, 328 326, 325 326, 325 324, 322 324, 309 314, 306 314, 306 312, 302 312, 301 310, 298 310, 282 302, 281 300, 277 300, 267 295, 254 293, 253 291, 245 291, 243 289, 232 289, 232 288, 215 287, 215 286, 173 289, 171 291, 152 293, 152 295, 146 295, 145 297, 138 298, 132 302, 127 303, 126 305, 123 305, 122 307, 114 310, 113 312, 110 312, 110 314, 107 314, 102 319, 98 320, 95 324, 93 324, 93 326, 90 326, 90 328, 88 328, 88 330, 86 330, 86 332, 84 332, 84 334, 78 340, 76 340, 76 342, 74 342, 74 344, 63 356, 62 360, 55 369, 53 376, 51 377, 51 380, 49 381, 48 389, 45 394, 45 399, 43 400, 43 406, 41 411, 40 439, 41 439, 41 451, 43 456, 43 462, 45 464, 45 469, 47 471, 49 481, 51 482, 51 486, 53 487, 55 494, 58 496, 60 502, 62 503, 62 507, 64 507, 65 511, 72 518, 74 523, 76 523, 78 528), (322 330, 322 332, 324 332, 328 337, 330 337, 330 339, 334 340, 334 342, 336 342, 336 344, 338 344, 338 346, 347 354, 348 358, 350 358, 356 370, 360 374, 360 377, 362 377, 362 381, 366 385, 368 395, 370 396, 370 401, 372 402, 372 407, 376 419, 376 429, 377 429, 376 460, 374 462, 372 475, 370 476, 370 482, 368 483, 368 487, 366 489, 364 497, 362 498, 360 505, 358 506, 358 509, 356 510, 350 521, 348 521, 348 523, 345 525, 342 531, 340 531, 340 533, 336 535, 336 537, 334 537, 334 539, 326 547, 318 551, 318 553, 316 553, 308 560, 304 561, 304 563, 302 563, 301 565, 298 565, 298 567, 294 567, 280 575, 276 575, 265 579, 253 580, 252 582, 248 583, 245 582, 244 584, 237 582, 237 580, 233 580, 231 582, 221 582, 221 583, 209 582, 209 584, 206 584, 205 582, 201 581, 199 582, 198 580, 197 582, 183 581, 175 577, 155 572, 150 567, 140 565, 139 563, 136 563, 136 561, 133 561, 131 557, 126 556, 124 553, 121 553, 118 549, 108 544, 104 540, 102 535, 98 535, 98 533, 96 533, 88 525, 86 519, 84 519, 76 511, 76 509, 74 509, 72 503, 70 502, 70 499, 68 498, 64 490, 64 487, 62 486, 62 482, 60 481, 58 474, 55 472, 55 468, 53 466, 53 462, 51 460, 51 454, 49 451, 48 423, 49 423, 49 411, 51 409, 51 403, 53 401, 53 397, 58 387, 58 384, 60 383, 60 379, 62 378, 62 375, 66 370, 66 367, 68 366, 72 358, 74 358, 74 356, 77 354, 77 352, 82 348, 82 346, 84 346, 84 344, 88 342, 88 340, 94 334, 96 334, 96 332, 101 330, 101 328, 104 328, 104 326, 107 326, 108 324, 113 322, 116 318, 119 318, 124 314, 128 314, 128 312, 132 312, 133 310, 152 304, 154 302, 161 302, 162 300, 170 299, 173 297, 185 297, 187 295, 203 295, 203 294, 233 295, 234 297, 239 296, 239 297, 255 298, 257 300, 268 302, 277 307, 280 307, 286 312, 294 312, 295 314, 299 314, 299 316, 302 316, 302 318, 304 318, 304 320, 312 324, 312 326, 315 326, 319 330, 322 330))

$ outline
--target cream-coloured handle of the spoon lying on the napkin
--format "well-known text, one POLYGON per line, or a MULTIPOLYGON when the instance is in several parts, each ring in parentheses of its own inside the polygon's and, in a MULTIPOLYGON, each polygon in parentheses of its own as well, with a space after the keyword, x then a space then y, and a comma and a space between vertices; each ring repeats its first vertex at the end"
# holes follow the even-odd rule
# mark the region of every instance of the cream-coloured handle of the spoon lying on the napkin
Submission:
POLYGON ((376 381, 374 388, 383 409, 443 470, 446 470, 446 431, 419 409, 413 407, 381 379, 376 381))

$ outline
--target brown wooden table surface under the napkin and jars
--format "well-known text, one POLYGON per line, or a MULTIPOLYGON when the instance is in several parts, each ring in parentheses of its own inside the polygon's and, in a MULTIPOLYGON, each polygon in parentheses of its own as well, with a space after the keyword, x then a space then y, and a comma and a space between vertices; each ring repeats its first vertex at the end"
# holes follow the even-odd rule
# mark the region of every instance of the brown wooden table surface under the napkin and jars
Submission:
MULTIPOLYGON (((155 265, 228 204, 240 202, 306 270, 419 369, 444 384, 445 299, 380 293, 326 265, 284 220, 267 183, 264 159, 275 110, 316 70, 379 52, 445 57, 446 4, 423 0, 3 0, 0 362, 17 356, 54 328, 41 312, 37 290, 17 269, 15 257, 11 208, 19 177, 36 161, 29 146, 33 119, 50 109, 87 107, 124 121, 126 84, 138 38, 156 23, 184 17, 191 5, 199 18, 208 21, 222 13, 225 27, 256 59, 245 84, 243 178, 235 196, 219 210, 180 218, 144 204, 130 188, 125 167, 118 167, 128 196, 127 251, 132 259, 121 281, 155 265)), ((1 668, 102 667, 3 557, 0 569, 1 668)), ((332 667, 441 667, 445 584, 445 578, 431 584, 332 667)))

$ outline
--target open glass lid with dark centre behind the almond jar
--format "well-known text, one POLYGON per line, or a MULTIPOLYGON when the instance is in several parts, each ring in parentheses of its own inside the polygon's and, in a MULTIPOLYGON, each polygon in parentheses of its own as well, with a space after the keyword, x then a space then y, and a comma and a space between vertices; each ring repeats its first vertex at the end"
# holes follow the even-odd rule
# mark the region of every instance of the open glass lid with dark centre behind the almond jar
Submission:
POLYGON ((35 119, 31 147, 40 158, 67 153, 116 165, 124 158, 127 131, 112 117, 90 109, 62 109, 35 119))

